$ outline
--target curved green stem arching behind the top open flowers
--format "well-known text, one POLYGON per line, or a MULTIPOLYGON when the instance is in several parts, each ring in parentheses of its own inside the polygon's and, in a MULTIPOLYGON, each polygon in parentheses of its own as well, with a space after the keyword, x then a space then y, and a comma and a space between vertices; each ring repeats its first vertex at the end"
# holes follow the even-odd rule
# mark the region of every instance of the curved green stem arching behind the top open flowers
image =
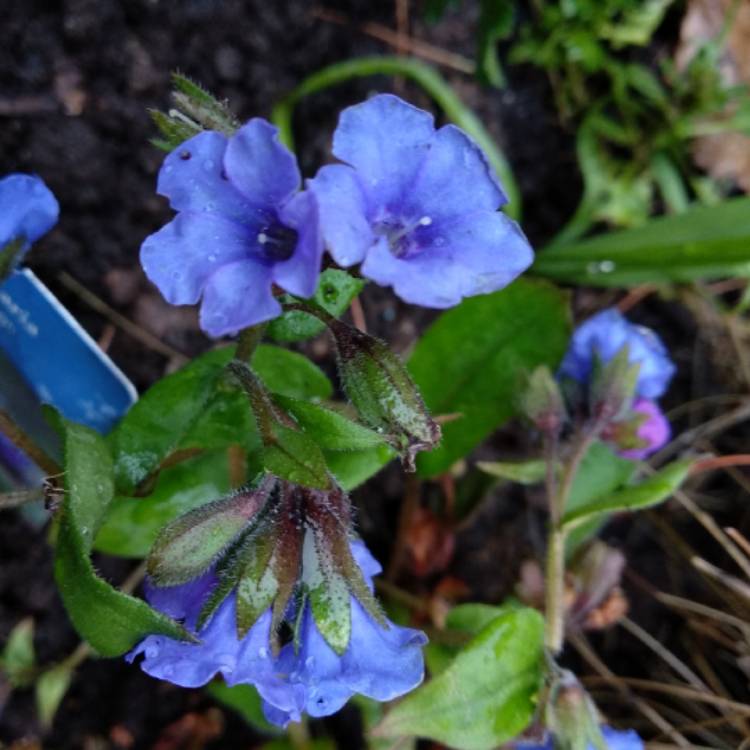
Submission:
POLYGON ((305 96, 344 83, 351 78, 374 75, 403 76, 414 81, 435 100, 449 120, 476 141, 503 183, 508 195, 506 213, 512 219, 518 220, 521 215, 521 192, 505 155, 482 121, 459 99, 448 82, 434 68, 419 60, 388 55, 360 57, 329 65, 313 73, 273 108, 271 121, 279 128, 282 142, 289 148, 293 147, 292 114, 296 104, 305 96))

